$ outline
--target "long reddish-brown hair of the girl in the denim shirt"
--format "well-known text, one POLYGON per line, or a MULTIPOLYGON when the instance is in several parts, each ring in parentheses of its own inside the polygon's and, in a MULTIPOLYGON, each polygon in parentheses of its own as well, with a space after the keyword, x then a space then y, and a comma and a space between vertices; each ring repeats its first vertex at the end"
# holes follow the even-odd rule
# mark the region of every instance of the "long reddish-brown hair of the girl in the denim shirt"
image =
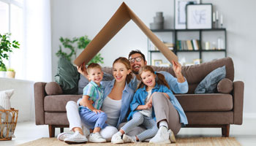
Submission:
MULTIPOLYGON (((139 71, 139 74, 141 75, 143 72, 147 72, 147 71, 152 72, 153 74, 157 75, 157 77, 158 77, 158 80, 156 80, 157 84, 165 85, 167 88, 170 88, 168 83, 165 80, 165 76, 160 74, 160 73, 154 72, 154 69, 151 66, 143 66, 143 67, 141 67, 141 69, 139 71)), ((143 88, 144 85, 145 84, 141 81, 138 88, 143 88)))

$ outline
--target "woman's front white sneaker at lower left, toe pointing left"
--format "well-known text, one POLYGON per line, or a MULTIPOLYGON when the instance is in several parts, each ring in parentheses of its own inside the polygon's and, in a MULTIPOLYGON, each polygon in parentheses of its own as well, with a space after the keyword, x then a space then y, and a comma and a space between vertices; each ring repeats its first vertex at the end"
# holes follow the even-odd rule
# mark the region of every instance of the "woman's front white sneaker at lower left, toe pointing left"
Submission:
POLYGON ((70 137, 64 139, 64 142, 66 142, 67 144, 79 144, 88 142, 88 139, 86 138, 86 136, 80 134, 78 131, 75 131, 75 134, 72 134, 70 137))

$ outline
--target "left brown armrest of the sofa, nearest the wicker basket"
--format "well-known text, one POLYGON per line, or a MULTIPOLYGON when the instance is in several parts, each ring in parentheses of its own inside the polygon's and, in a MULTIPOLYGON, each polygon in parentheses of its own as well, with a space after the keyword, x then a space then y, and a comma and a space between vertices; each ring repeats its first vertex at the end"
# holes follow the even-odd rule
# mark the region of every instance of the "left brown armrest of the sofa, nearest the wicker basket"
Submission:
POLYGON ((45 111, 44 111, 44 99, 46 82, 34 83, 34 107, 35 107, 35 118, 36 125, 45 124, 45 111))

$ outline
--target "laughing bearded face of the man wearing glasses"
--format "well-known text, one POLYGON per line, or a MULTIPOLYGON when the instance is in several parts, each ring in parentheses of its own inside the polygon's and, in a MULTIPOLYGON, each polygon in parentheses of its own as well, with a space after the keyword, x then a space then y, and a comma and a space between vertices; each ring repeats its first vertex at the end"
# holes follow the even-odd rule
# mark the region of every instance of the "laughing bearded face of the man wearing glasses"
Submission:
POLYGON ((129 63, 131 64, 132 72, 134 74, 138 74, 140 68, 147 65, 147 61, 144 61, 139 53, 129 56, 129 63))

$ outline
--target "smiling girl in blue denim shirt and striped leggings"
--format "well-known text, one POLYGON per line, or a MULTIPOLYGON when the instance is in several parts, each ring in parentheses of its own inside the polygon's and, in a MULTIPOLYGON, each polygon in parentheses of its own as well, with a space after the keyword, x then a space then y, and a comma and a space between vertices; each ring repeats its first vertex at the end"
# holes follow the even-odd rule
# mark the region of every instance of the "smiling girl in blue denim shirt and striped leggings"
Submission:
MULTIPOLYGON (((128 123, 121 127, 120 131, 113 135, 111 142, 114 144, 124 142, 142 142, 145 139, 154 137, 157 134, 157 122, 152 108, 152 95, 156 92, 164 93, 167 99, 170 99, 172 92, 169 90, 165 77, 162 74, 154 72, 151 66, 143 66, 140 69, 140 78, 142 82, 132 99, 128 123), (158 80, 156 80, 156 77, 158 80), (147 129, 135 137, 129 137, 126 134, 135 126, 143 125, 147 129), (121 136, 123 138, 121 139, 121 136)), ((167 143, 167 142, 166 142, 167 143)), ((169 141, 170 143, 170 141, 169 141)))

